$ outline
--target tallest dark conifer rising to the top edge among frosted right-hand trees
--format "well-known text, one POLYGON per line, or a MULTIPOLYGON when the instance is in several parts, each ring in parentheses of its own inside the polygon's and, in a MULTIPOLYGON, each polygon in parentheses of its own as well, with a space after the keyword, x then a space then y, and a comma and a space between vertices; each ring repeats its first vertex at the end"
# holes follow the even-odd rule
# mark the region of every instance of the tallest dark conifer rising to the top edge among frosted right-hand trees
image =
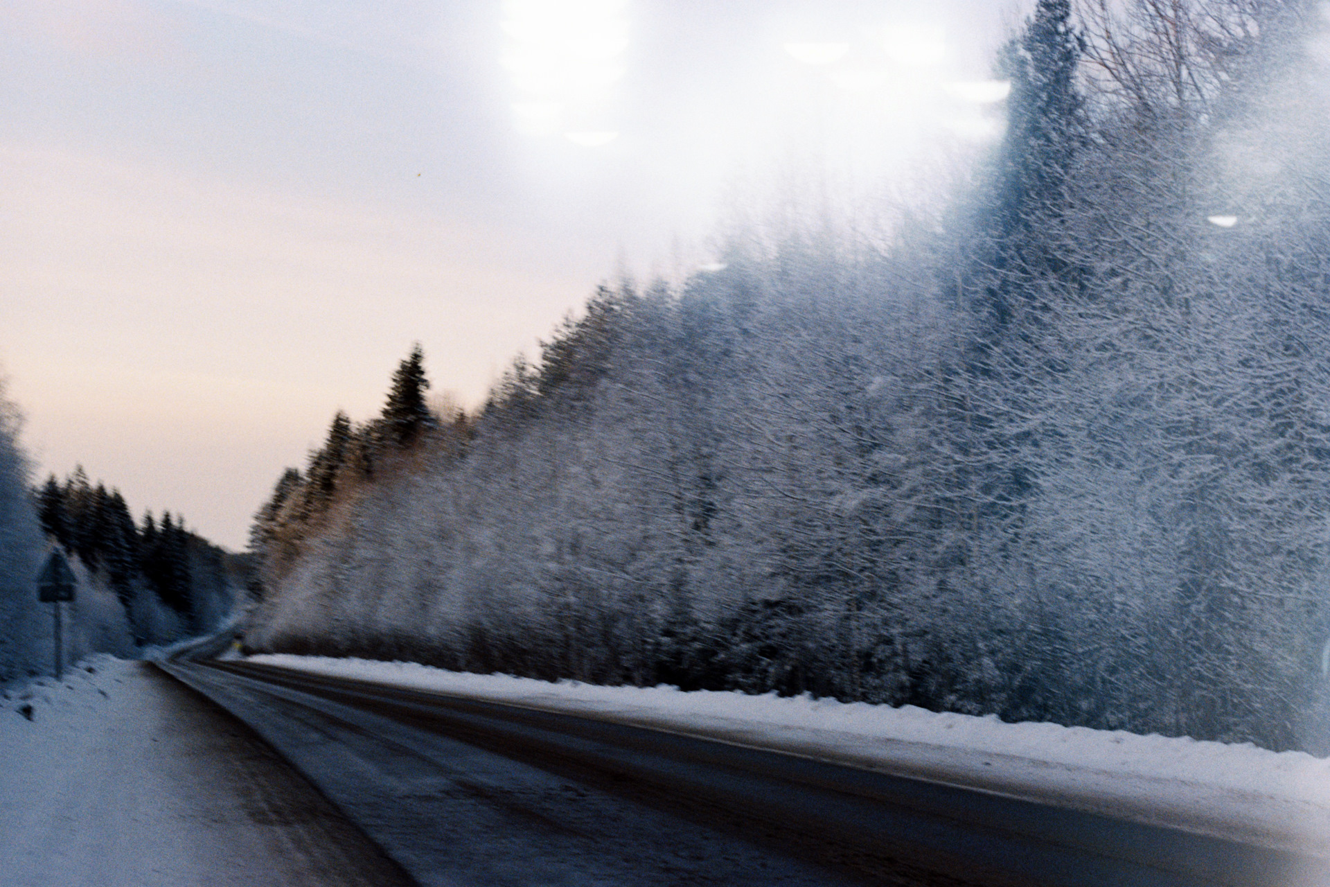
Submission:
POLYGON ((1077 86, 1084 41, 1069 20, 1068 0, 1039 0, 999 57, 1012 88, 974 223, 964 306, 972 331, 964 363, 947 370, 938 391, 950 464, 935 508, 966 540, 966 584, 984 549, 1005 559, 1028 537, 1045 438, 1056 435, 1040 404, 1065 363, 1069 309, 1089 286, 1068 217, 1089 145, 1077 86))

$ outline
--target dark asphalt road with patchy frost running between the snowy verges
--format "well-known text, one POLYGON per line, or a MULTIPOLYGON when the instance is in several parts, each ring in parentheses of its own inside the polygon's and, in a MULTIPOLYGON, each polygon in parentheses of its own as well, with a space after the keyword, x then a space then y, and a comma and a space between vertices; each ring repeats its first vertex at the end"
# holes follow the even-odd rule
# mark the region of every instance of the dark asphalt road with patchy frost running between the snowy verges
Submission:
POLYGON ((271 665, 162 668, 422 884, 1330 884, 1287 851, 605 719, 271 665))

